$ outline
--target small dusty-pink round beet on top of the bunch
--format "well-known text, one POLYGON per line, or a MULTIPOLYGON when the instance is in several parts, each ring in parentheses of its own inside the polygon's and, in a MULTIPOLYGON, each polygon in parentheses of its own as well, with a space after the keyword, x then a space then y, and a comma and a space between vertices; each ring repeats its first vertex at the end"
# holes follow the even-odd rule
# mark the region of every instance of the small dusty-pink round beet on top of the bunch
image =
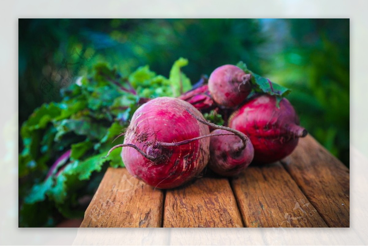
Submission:
POLYGON ((216 68, 208 79, 208 89, 213 100, 227 108, 243 102, 251 91, 251 74, 234 65, 216 68))

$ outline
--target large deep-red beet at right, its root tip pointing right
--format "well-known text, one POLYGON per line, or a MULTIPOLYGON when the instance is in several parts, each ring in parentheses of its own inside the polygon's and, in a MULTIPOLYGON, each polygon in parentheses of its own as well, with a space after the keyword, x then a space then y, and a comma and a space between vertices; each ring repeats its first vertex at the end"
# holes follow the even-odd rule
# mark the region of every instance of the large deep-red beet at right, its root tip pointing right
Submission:
POLYGON ((298 126, 299 119, 290 102, 283 98, 261 95, 245 103, 229 118, 229 127, 246 134, 254 147, 254 162, 270 163, 289 155, 298 138, 307 130, 298 126))

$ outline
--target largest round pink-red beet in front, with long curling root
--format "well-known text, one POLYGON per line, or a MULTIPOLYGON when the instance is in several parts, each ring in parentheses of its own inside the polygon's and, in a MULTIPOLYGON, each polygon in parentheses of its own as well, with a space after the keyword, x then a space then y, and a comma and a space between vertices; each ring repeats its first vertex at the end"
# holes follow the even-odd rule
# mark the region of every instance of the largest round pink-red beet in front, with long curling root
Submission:
POLYGON ((125 167, 145 183, 162 189, 174 188, 198 176, 209 160, 208 137, 186 144, 180 141, 209 134, 198 122, 202 114, 177 98, 155 98, 135 111, 125 133, 121 158, 125 167), (169 143, 172 146, 165 146, 169 143), (138 150, 148 155, 144 157, 138 150))

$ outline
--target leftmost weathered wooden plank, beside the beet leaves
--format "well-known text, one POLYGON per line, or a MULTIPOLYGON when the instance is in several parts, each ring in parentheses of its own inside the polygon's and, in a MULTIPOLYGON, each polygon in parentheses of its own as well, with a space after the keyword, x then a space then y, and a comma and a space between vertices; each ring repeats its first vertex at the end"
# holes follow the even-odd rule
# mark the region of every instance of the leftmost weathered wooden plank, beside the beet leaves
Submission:
POLYGON ((162 208, 163 190, 154 190, 125 168, 109 168, 80 227, 160 227, 162 208))

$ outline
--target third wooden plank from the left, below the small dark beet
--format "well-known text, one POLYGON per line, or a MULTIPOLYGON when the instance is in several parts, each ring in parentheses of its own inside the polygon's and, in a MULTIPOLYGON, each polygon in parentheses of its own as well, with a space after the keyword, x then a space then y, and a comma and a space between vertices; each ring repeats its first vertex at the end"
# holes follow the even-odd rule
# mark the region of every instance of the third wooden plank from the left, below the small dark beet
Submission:
POLYGON ((251 165, 231 185, 247 227, 328 227, 279 162, 251 165))

